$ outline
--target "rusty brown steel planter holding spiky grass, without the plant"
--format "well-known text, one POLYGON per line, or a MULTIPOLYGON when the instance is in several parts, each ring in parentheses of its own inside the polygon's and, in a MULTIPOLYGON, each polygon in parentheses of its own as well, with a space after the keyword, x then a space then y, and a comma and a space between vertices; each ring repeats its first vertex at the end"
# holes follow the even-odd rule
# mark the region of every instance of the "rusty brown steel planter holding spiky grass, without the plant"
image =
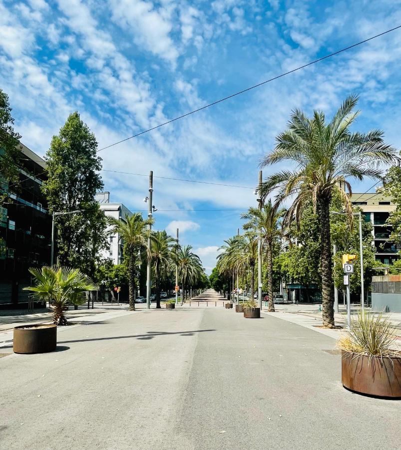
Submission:
POLYGON ((401 399, 401 358, 368 356, 342 351, 341 381, 347 389, 376 397, 401 399))

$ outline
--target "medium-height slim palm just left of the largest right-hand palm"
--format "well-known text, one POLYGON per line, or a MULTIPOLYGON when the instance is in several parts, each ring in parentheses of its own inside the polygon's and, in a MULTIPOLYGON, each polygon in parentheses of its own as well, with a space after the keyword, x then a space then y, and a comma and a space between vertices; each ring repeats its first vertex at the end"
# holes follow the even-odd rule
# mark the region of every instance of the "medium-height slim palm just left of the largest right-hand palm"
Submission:
POLYGON ((273 245, 281 236, 279 222, 285 209, 277 209, 269 201, 262 208, 250 207, 247 212, 241 214, 241 218, 248 220, 244 223, 245 230, 253 229, 261 232, 262 248, 266 247, 267 256, 267 286, 269 293, 268 311, 274 311, 273 301, 273 245))

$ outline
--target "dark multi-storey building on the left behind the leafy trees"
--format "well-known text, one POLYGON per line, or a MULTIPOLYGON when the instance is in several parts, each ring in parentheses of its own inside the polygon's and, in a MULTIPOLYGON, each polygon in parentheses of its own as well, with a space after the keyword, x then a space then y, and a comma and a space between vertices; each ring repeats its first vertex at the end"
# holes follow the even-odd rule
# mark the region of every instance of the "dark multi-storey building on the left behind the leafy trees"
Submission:
POLYGON ((50 263, 51 216, 41 192, 46 163, 21 144, 19 182, 0 184, 9 200, 0 205, 0 308, 26 307, 29 267, 50 263))

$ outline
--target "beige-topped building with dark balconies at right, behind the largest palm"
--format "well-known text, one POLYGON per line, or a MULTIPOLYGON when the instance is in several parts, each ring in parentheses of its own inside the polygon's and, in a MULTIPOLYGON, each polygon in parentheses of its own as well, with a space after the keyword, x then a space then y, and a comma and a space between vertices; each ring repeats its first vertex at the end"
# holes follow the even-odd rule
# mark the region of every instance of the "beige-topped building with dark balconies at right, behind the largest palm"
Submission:
POLYGON ((393 264, 400 257, 401 247, 389 240, 392 227, 386 220, 397 205, 391 201, 391 197, 379 192, 353 192, 351 201, 364 211, 365 221, 372 223, 372 245, 376 248, 376 260, 384 265, 393 264))

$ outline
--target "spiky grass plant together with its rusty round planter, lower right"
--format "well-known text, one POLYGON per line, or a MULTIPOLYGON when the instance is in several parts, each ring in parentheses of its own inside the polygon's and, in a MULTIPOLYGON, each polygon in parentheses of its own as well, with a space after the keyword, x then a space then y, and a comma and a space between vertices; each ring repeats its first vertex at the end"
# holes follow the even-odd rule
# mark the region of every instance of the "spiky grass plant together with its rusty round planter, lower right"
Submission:
POLYGON ((351 329, 337 342, 342 350, 342 383, 356 392, 401 397, 401 351, 389 317, 359 311, 351 329))

